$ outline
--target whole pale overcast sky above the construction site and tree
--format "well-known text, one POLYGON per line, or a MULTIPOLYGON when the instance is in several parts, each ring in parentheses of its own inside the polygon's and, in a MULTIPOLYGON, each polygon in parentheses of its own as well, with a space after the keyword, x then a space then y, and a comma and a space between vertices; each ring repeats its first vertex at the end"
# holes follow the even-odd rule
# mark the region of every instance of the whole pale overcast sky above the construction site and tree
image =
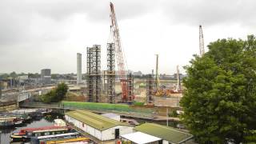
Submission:
MULTIPOLYGON (((199 53, 198 25, 205 46, 218 38, 255 34, 255 0, 114 0, 128 68, 150 73, 159 54, 160 73, 173 74, 199 53)), ((0 73, 76 73, 76 54, 102 45, 110 35, 106 0, 1 0, 0 73)), ((206 48, 207 51, 207 48, 206 48)), ((183 70, 181 70, 183 72, 183 70)))

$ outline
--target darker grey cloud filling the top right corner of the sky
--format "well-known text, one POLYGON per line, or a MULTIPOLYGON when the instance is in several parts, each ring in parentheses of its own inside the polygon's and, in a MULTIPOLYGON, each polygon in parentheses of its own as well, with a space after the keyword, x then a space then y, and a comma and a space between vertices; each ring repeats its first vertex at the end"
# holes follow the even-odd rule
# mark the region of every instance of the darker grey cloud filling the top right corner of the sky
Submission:
POLYGON ((163 13, 174 23, 207 26, 238 23, 246 26, 256 24, 254 0, 184 0, 163 2, 163 13))

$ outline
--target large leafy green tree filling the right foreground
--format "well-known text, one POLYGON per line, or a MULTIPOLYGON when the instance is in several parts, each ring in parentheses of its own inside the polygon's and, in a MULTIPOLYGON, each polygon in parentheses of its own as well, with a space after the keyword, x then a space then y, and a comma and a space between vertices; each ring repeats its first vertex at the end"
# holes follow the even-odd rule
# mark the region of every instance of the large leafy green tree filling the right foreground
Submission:
POLYGON ((256 40, 211 42, 186 66, 182 121, 200 143, 254 141, 256 40))

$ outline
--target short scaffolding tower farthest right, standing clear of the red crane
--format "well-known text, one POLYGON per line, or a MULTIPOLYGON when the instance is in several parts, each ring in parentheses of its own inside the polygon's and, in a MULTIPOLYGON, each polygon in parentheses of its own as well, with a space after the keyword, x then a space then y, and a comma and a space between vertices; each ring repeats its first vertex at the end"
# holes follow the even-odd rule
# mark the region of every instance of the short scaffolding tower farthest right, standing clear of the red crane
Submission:
POLYGON ((152 74, 148 74, 146 79, 146 104, 154 103, 154 78, 152 74))

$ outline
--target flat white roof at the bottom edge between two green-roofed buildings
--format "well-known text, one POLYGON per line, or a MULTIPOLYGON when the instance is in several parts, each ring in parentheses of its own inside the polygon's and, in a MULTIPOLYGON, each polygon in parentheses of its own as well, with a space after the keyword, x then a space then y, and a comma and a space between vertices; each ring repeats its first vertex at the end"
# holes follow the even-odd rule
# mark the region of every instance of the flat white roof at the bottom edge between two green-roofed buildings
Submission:
POLYGON ((162 140, 161 138, 157 138, 149 134, 144 134, 142 132, 124 134, 124 135, 121 135, 121 137, 126 138, 127 140, 134 143, 138 143, 138 144, 146 144, 146 143, 157 142, 162 140))

